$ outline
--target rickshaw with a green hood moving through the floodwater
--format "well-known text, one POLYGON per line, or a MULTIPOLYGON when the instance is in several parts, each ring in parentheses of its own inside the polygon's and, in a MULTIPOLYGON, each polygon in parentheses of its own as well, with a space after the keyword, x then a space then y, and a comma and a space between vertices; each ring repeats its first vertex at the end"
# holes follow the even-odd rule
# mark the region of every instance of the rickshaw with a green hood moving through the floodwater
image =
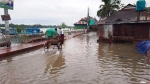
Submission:
POLYGON ((57 31, 54 29, 48 29, 46 30, 47 41, 44 43, 44 51, 48 51, 51 46, 53 46, 53 49, 55 46, 57 46, 58 50, 62 49, 62 44, 64 43, 64 34, 58 35, 57 31))

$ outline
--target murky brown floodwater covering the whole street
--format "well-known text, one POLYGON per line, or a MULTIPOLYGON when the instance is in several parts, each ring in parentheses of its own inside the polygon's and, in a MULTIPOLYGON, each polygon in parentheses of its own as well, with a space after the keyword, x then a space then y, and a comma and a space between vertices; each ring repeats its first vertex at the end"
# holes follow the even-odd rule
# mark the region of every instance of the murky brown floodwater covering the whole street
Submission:
POLYGON ((95 33, 0 59, 0 84, 150 84, 150 65, 132 44, 96 43, 95 33))

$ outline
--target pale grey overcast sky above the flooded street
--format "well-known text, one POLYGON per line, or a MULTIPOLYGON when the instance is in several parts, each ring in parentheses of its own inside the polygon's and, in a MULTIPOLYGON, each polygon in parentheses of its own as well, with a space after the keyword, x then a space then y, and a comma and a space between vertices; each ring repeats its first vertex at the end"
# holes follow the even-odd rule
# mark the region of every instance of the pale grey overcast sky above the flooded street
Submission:
MULTIPOLYGON (((136 3, 137 0, 121 0, 127 5, 136 3)), ((150 0, 145 0, 150 6, 150 0)), ((41 24, 60 25, 65 22, 72 26, 81 18, 87 16, 87 9, 90 9, 90 16, 96 17, 101 0, 14 0, 14 10, 9 10, 11 20, 14 24, 41 24)), ((0 8, 0 15, 4 9, 0 8)), ((0 23, 4 23, 0 19, 0 23)))

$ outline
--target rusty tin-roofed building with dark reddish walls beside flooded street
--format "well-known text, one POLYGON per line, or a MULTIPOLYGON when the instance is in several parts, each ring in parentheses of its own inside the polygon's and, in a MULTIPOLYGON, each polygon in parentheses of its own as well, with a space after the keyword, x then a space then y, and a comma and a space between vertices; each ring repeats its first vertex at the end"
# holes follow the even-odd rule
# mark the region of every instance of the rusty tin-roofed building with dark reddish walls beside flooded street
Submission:
POLYGON ((108 32, 113 33, 114 42, 139 42, 150 39, 150 14, 140 12, 139 21, 136 6, 128 4, 117 13, 96 23, 99 39, 108 39, 108 32))

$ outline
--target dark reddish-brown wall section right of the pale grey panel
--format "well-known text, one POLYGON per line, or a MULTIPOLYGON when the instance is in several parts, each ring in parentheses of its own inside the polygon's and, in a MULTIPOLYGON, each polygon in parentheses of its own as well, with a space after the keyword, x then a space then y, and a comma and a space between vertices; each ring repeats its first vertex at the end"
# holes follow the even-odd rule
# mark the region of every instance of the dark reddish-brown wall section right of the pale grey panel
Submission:
POLYGON ((149 32, 150 24, 148 23, 114 24, 113 36, 121 36, 120 40, 128 41, 131 37, 133 41, 141 41, 150 39, 149 32))

